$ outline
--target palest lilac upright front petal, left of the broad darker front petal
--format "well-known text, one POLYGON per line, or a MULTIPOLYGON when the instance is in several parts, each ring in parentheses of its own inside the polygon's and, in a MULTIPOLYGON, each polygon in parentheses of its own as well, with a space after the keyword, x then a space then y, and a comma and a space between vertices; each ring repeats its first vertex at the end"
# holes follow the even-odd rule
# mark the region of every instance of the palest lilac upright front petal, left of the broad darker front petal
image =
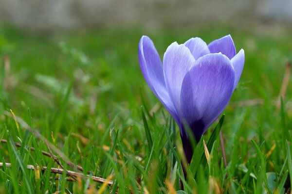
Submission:
POLYGON ((186 72, 195 64, 190 50, 184 45, 172 43, 165 51, 163 71, 166 88, 180 116, 181 88, 186 72))

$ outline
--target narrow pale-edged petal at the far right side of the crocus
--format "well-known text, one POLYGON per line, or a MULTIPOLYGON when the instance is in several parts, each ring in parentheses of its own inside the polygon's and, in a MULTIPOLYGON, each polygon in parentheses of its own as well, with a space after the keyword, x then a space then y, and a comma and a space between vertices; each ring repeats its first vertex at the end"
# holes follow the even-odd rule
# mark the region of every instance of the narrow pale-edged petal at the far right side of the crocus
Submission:
POLYGON ((243 66, 244 66, 244 50, 243 49, 239 50, 237 55, 235 55, 231 59, 231 65, 233 65, 234 72, 235 72, 234 86, 233 86, 233 90, 235 90, 237 83, 239 81, 239 78, 241 76, 243 66))

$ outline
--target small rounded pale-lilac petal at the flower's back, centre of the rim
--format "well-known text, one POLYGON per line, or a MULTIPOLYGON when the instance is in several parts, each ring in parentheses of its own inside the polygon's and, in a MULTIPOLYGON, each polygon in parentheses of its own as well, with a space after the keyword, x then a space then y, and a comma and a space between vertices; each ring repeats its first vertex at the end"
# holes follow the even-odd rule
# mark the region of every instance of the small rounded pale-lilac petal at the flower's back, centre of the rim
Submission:
POLYGON ((196 60, 199 59, 201 56, 210 53, 207 44, 198 37, 189 39, 184 43, 184 45, 190 49, 192 55, 196 60))

